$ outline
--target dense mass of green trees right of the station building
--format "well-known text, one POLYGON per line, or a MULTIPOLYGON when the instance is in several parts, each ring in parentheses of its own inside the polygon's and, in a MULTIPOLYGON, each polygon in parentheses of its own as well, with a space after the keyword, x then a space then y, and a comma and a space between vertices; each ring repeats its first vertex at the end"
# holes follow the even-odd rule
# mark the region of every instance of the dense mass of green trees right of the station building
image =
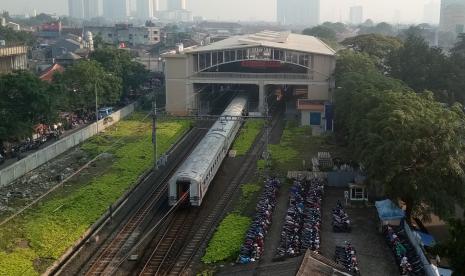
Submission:
MULTIPOLYGON (((339 56, 337 137, 363 163, 370 182, 383 185, 376 190, 405 204, 407 219, 431 213, 447 219, 455 204, 465 202, 465 118, 462 106, 446 108, 425 90, 436 91, 439 99, 447 86, 460 87, 463 80, 444 79, 456 76, 446 73, 445 55, 429 48, 414 30, 402 47, 386 55, 388 73, 395 78, 373 66, 370 59, 379 57, 371 51, 339 56)), ((464 60, 459 53, 452 55, 464 60)))

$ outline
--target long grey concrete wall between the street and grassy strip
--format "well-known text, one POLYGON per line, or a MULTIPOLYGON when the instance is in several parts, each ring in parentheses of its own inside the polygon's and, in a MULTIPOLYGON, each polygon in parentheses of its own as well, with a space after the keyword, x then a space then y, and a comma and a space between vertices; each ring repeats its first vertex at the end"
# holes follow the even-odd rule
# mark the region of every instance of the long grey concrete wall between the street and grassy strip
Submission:
MULTIPOLYGON (((130 104, 123 109, 120 109, 110 115, 113 120, 108 120, 108 117, 98 122, 98 131, 113 125, 119 120, 127 117, 134 112, 135 104, 130 104)), ((97 134, 97 123, 93 123, 69 136, 66 136, 52 145, 43 148, 33 154, 28 155, 24 159, 4 168, 0 171, 0 187, 4 187, 24 174, 43 165, 49 160, 57 157, 65 151, 77 146, 90 137, 97 134)))

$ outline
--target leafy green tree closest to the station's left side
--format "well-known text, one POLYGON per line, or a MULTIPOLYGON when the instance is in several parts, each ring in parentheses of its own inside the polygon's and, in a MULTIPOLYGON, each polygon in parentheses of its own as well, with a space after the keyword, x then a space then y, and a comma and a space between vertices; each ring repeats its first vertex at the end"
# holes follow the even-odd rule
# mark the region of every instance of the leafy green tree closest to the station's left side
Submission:
POLYGON ((144 66, 133 61, 131 54, 126 50, 110 47, 97 49, 92 53, 91 59, 98 61, 107 71, 122 79, 124 95, 131 89, 137 89, 150 77, 144 66))

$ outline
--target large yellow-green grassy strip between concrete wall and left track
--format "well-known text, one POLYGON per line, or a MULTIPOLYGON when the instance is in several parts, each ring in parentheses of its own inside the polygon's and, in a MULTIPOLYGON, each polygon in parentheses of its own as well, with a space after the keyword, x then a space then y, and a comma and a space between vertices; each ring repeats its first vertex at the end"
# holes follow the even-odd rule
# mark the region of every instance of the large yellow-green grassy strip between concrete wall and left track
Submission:
MULTIPOLYGON (((82 145, 91 156, 112 154, 111 159, 96 161, 98 175, 72 180, 70 187, 0 227, 0 275, 42 273, 151 167, 150 120, 142 122, 142 116, 136 114, 82 145)), ((160 122, 159 152, 165 152, 189 124, 160 122)))

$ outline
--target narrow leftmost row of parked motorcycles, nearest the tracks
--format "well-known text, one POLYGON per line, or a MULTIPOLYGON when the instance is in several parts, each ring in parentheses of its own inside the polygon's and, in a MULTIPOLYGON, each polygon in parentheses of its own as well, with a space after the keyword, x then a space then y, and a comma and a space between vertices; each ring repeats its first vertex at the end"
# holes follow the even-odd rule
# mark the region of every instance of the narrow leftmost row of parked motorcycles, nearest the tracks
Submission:
POLYGON ((264 239, 271 225, 279 186, 280 182, 276 178, 270 178, 266 181, 257 203, 255 218, 247 231, 244 244, 241 246, 238 263, 248 264, 258 261, 263 254, 264 239))

